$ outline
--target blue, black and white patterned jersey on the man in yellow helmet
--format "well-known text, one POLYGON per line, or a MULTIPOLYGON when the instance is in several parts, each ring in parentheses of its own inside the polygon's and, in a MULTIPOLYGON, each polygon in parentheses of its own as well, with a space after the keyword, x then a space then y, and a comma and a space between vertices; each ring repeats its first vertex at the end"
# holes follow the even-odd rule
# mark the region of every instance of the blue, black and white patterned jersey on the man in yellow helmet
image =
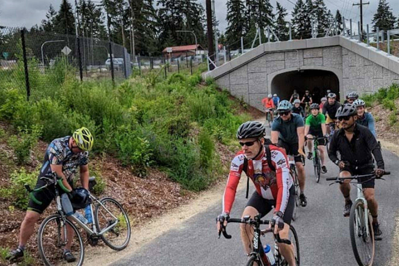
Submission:
POLYGON ((89 152, 74 154, 69 149, 69 138, 70 136, 56 138, 50 142, 44 155, 39 177, 51 175, 50 164, 62 165, 62 173, 70 181, 77 173, 77 167, 84 166, 89 162, 89 152))

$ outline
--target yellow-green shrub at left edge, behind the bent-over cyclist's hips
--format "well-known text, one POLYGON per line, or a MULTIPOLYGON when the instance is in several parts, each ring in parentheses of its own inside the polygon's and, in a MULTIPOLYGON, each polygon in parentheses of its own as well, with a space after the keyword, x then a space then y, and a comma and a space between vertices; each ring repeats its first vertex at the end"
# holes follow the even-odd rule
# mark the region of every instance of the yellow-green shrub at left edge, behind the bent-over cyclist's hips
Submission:
POLYGON ((24 184, 34 187, 38 178, 39 168, 28 173, 24 167, 18 171, 15 170, 10 175, 10 186, 0 188, 0 195, 6 199, 11 199, 12 204, 22 210, 28 207, 28 197, 26 197, 26 189, 24 184))

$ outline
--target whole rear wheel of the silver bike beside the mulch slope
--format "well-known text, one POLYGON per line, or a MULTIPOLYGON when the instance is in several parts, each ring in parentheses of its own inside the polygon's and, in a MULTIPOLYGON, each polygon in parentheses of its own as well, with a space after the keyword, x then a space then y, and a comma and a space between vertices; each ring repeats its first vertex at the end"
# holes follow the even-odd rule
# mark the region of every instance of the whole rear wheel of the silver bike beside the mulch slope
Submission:
POLYGON ((101 232, 117 223, 114 227, 101 234, 101 238, 114 250, 126 248, 130 241, 130 222, 126 211, 122 205, 113 198, 103 198, 101 204, 97 204, 95 209, 95 223, 101 232))

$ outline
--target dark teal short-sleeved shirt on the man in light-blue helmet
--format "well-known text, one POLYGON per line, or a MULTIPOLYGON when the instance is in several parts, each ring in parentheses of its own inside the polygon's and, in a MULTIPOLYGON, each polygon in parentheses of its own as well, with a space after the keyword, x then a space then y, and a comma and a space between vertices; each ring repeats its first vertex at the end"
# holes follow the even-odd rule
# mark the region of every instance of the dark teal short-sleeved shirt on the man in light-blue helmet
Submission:
POLYGON ((288 121, 282 120, 279 116, 275 118, 272 123, 272 131, 279 131, 279 139, 288 143, 296 144, 298 143, 298 133, 296 128, 304 126, 303 118, 299 114, 292 114, 288 121))

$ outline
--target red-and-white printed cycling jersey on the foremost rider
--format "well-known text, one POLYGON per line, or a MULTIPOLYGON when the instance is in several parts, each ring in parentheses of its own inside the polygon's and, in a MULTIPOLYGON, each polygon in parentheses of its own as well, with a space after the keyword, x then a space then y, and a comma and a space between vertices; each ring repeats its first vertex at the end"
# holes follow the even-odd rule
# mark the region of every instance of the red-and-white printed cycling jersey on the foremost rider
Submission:
MULTIPOLYGON (((265 148, 263 152, 255 158, 248 160, 247 174, 253 181, 256 191, 264 199, 274 199, 276 201, 275 211, 284 213, 290 196, 290 187, 293 184, 290 175, 288 158, 285 152, 276 146, 269 145, 271 152, 271 162, 276 171, 272 171, 267 164, 265 148)), ((229 178, 223 195, 223 212, 230 213, 233 206, 235 192, 243 172, 245 154, 243 150, 237 152, 230 166, 229 178)))

